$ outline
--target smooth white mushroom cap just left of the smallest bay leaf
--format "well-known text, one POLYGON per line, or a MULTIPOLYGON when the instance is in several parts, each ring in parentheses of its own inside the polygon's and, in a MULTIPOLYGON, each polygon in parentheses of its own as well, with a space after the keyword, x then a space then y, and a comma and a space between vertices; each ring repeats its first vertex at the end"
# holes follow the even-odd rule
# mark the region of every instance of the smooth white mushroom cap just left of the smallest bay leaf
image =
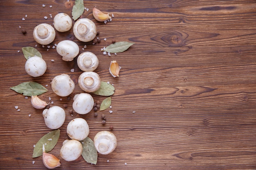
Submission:
POLYGON ((74 102, 72 104, 76 113, 81 115, 89 113, 94 105, 92 96, 88 93, 80 93, 74 96, 74 102))

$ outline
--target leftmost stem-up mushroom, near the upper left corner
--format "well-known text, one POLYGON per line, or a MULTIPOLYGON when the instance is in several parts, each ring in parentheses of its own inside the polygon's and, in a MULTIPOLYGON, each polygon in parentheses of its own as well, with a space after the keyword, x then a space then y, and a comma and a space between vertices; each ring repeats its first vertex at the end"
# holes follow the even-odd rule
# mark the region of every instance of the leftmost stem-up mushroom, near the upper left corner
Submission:
POLYGON ((34 40, 42 45, 47 45, 53 42, 55 35, 54 28, 46 23, 39 24, 33 31, 34 40))

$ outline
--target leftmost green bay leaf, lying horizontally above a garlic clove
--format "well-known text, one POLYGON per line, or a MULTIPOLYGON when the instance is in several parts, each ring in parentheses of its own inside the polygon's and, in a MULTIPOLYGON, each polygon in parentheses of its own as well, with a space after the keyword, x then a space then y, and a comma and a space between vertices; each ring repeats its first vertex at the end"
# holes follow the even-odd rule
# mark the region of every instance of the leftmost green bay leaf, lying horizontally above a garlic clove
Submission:
POLYGON ((25 96, 41 95, 48 91, 44 86, 36 82, 24 82, 10 88, 25 96))

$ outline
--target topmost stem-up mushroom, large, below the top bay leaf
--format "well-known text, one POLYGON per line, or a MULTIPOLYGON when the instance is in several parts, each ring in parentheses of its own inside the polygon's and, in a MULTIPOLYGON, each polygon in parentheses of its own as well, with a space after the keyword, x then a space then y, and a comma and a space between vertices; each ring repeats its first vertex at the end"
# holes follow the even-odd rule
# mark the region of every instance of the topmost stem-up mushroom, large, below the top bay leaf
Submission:
POLYGON ((88 18, 81 18, 75 22, 73 33, 82 42, 92 41, 97 35, 96 25, 88 18))

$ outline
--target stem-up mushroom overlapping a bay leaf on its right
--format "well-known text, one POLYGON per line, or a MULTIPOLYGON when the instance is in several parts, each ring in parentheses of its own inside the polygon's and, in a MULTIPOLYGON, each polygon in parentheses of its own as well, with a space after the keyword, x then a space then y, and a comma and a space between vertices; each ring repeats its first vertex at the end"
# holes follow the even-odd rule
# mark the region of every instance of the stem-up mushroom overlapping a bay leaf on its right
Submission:
POLYGON ((101 85, 101 78, 93 71, 85 71, 78 78, 80 88, 88 93, 97 91, 101 85))

